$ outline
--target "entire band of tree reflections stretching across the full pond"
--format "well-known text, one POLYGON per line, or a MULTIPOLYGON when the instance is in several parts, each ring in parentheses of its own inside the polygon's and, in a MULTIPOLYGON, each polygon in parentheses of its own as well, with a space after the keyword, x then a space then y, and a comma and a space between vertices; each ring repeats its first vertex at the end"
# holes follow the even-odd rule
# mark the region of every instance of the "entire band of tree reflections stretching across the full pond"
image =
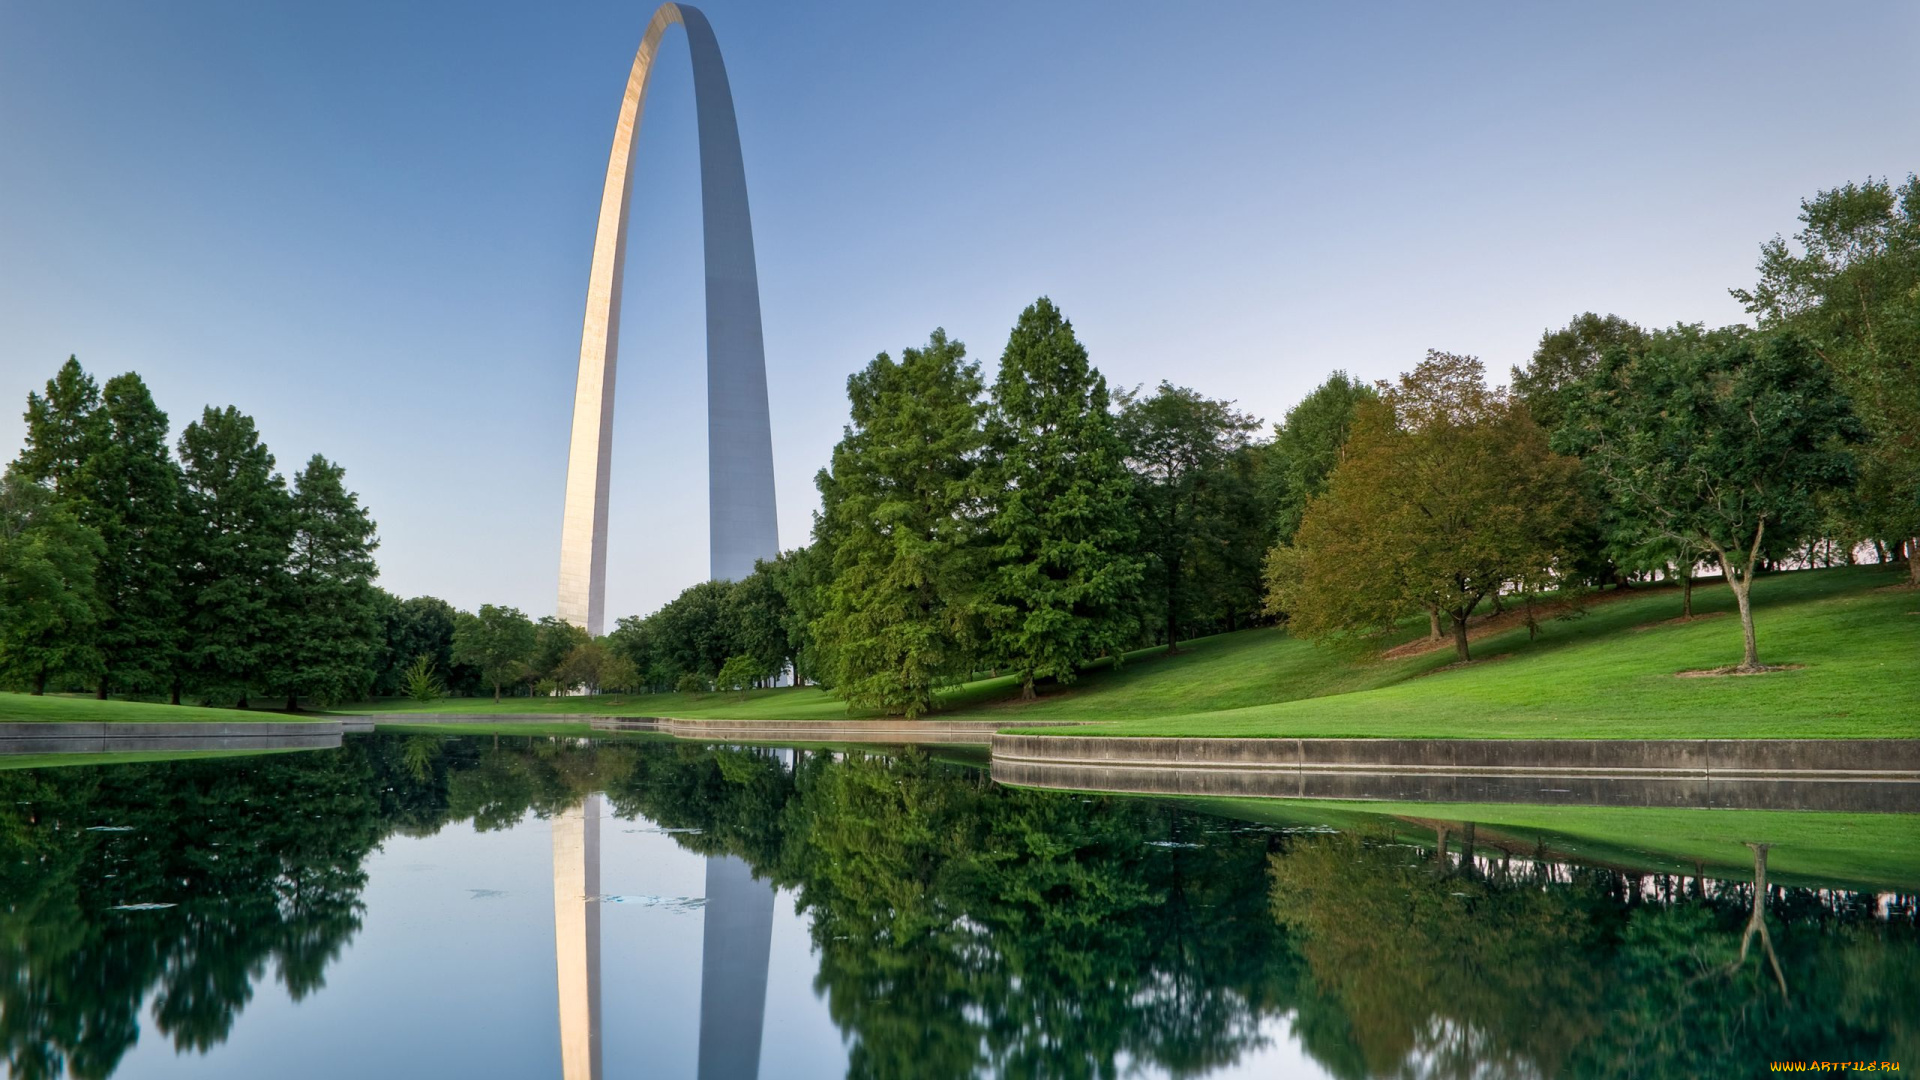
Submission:
POLYGON ((0 773, 10 1070, 111 1074, 148 997, 163 1036, 207 1049, 269 972, 294 997, 323 986, 382 836, 507 828, 588 790, 797 892, 852 1076, 1194 1076, 1283 1015, 1348 1078, 1920 1059, 1912 922, 1849 894, 1768 890, 1786 1001, 1766 963, 1732 963, 1741 888, 1549 884, 1524 859, 1461 872, 1373 838, 1014 792, 918 753, 376 736, 0 773), (131 832, 86 832, 102 824, 131 832), (177 907, 113 911, 152 901, 177 907))

